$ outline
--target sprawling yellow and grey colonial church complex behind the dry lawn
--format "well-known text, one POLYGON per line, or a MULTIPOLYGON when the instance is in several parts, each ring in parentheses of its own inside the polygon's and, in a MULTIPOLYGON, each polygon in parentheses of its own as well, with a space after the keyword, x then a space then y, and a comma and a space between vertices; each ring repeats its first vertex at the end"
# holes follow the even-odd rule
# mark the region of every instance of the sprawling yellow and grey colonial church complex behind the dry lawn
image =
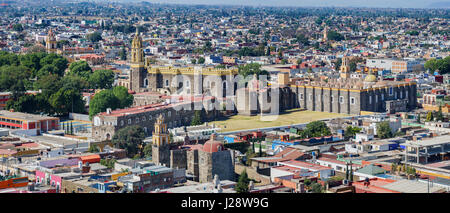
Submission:
POLYGON ((345 57, 338 78, 290 78, 288 73, 280 73, 277 82, 270 86, 258 84, 254 77, 246 87, 238 88, 239 82, 234 80, 238 75, 236 68, 150 66, 145 60, 142 38, 137 31, 132 41, 130 63, 128 82, 122 81, 119 85, 128 87, 136 95, 145 96, 146 92, 161 94, 165 100, 98 114, 93 118, 92 131, 96 140, 111 139, 117 130, 129 125, 140 125, 150 135, 159 115, 163 116, 168 128, 189 125, 196 104, 202 106, 205 119, 209 120, 219 116, 218 110, 222 110, 224 104, 227 107, 231 105, 235 113, 247 116, 295 108, 359 115, 364 111, 408 111, 414 109, 417 102, 415 82, 378 80, 372 73, 365 78, 350 78, 349 60, 345 57), (181 80, 174 85, 174 78, 181 80), (195 85, 199 82, 203 85, 195 85), (213 89, 215 86, 221 87, 216 90, 213 89), (222 93, 218 92, 220 90, 222 93), (211 104, 218 103, 222 105, 211 107, 211 104))

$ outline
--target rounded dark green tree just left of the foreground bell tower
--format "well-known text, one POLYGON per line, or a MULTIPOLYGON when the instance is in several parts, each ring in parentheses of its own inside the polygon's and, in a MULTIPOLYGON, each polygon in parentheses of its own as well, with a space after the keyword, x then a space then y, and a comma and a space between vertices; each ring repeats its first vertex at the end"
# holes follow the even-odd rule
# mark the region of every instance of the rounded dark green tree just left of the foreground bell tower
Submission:
POLYGON ((136 154, 141 154, 143 142, 145 138, 144 129, 141 126, 133 125, 119 129, 114 134, 112 143, 116 148, 125 149, 129 158, 136 154))

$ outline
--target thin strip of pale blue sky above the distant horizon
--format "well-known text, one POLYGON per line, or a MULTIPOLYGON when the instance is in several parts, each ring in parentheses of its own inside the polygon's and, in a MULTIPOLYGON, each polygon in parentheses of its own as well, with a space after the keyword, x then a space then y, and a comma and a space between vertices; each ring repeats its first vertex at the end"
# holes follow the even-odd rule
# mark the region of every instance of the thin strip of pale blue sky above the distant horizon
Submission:
MULTIPOLYGON (((142 1, 142 0, 134 0, 142 1)), ((144 0, 152 3, 175 4, 223 4, 252 6, 298 6, 298 7, 383 7, 428 8, 450 7, 450 0, 144 0)))

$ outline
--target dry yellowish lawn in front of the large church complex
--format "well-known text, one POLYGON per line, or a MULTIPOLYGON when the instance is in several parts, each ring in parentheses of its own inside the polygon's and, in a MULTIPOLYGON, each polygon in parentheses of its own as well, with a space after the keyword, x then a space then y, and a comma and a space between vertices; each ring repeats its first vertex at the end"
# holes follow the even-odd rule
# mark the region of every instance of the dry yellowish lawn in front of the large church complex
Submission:
POLYGON ((300 111, 298 109, 287 110, 278 116, 243 116, 234 115, 226 120, 213 121, 209 124, 216 124, 221 128, 219 132, 230 132, 237 130, 256 129, 273 126, 284 126, 298 123, 308 123, 326 118, 347 117, 350 115, 328 112, 300 111))

